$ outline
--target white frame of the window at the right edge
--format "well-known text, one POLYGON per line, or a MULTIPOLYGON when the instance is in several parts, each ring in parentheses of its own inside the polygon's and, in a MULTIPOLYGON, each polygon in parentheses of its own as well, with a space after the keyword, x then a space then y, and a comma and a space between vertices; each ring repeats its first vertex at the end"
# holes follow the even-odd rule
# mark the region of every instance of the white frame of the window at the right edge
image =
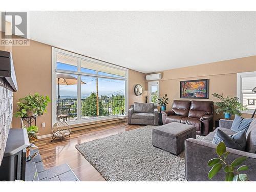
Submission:
MULTIPOLYGON (((239 98, 240 103, 243 103, 242 98, 242 78, 243 77, 251 77, 256 76, 256 71, 251 72, 243 72, 243 73, 237 73, 237 97, 239 98)), ((256 87, 256 85, 255 85, 256 87)), ((242 111, 242 113, 246 114, 253 114, 254 110, 249 111, 242 111)))

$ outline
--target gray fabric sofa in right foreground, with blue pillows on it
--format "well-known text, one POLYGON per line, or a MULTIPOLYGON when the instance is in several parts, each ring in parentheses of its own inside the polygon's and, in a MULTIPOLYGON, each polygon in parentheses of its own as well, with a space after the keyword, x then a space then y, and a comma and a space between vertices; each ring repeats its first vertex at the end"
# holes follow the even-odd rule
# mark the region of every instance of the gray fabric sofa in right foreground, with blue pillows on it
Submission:
MULTIPOLYGON (((232 120, 221 119, 219 121, 220 127, 217 129, 222 130, 228 135, 232 135, 236 132, 230 130, 232 120)), ((216 144, 212 144, 211 141, 214 138, 215 132, 209 133, 204 140, 197 140, 189 138, 185 140, 185 160, 186 160, 186 180, 188 181, 224 181, 225 173, 223 170, 219 172, 211 180, 208 179, 208 167, 207 162, 216 158, 216 144)), ((231 163, 234 159, 244 156, 248 157, 243 162, 243 165, 249 166, 246 170, 246 174, 250 181, 256 181, 256 118, 250 124, 249 130, 246 133, 246 150, 239 151, 227 147, 227 151, 230 153, 227 158, 227 162, 231 163)))

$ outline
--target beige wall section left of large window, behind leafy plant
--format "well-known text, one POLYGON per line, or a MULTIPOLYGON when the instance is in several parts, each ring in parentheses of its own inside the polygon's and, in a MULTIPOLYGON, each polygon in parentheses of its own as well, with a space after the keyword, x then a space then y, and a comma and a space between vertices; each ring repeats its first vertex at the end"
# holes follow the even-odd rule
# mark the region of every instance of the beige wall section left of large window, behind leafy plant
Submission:
MULTIPOLYGON (((14 68, 18 83, 18 92, 14 93, 13 112, 17 111, 16 102, 28 94, 38 92, 51 98, 51 46, 30 40, 30 46, 12 47, 14 68)), ((47 106, 47 113, 37 117, 39 135, 51 133, 51 103, 47 106), (46 127, 42 128, 41 123, 46 127)), ((20 127, 19 118, 13 117, 12 127, 20 127)))

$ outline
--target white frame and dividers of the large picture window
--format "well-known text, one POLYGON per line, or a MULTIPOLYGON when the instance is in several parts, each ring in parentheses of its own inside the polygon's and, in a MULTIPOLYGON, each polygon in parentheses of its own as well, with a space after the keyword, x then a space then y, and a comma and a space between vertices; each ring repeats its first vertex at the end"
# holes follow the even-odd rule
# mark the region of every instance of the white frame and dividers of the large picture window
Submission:
POLYGON ((88 117, 86 119, 81 119, 81 100, 80 100, 81 99, 81 89, 80 89, 81 88, 81 78, 80 78, 80 75, 81 76, 98 77, 98 78, 124 80, 124 82, 125 82, 125 111, 127 113, 128 108, 129 108, 129 69, 52 47, 52 100, 51 100, 52 101, 51 102, 52 103, 52 126, 57 121, 57 117, 56 117, 56 113, 57 113, 56 112, 56 103, 57 103, 56 102, 57 101, 56 100, 56 73, 78 75, 78 78, 77 78, 77 81, 78 81, 78 83, 77 83, 77 120, 67 121, 67 123, 69 125, 83 124, 83 123, 87 123, 87 122, 95 122, 95 121, 100 121, 100 120, 117 118, 117 115, 112 115, 112 116, 102 116, 102 117, 88 117), (57 53, 62 54, 62 55, 71 56, 71 57, 76 57, 77 58, 77 71, 67 71, 67 70, 56 69, 56 54, 57 53), (112 77, 112 76, 106 76, 106 75, 98 75, 98 74, 81 72, 81 60, 88 60, 89 62, 95 62, 95 63, 103 65, 103 66, 121 69, 121 70, 125 71, 125 77, 112 77))

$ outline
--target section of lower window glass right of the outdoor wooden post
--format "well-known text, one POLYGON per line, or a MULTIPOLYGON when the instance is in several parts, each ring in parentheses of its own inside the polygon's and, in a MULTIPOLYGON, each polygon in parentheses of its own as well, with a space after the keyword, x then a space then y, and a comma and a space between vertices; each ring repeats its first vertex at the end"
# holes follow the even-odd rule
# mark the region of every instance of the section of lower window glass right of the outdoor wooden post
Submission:
POLYGON ((99 116, 125 113, 125 81, 99 78, 99 116))

